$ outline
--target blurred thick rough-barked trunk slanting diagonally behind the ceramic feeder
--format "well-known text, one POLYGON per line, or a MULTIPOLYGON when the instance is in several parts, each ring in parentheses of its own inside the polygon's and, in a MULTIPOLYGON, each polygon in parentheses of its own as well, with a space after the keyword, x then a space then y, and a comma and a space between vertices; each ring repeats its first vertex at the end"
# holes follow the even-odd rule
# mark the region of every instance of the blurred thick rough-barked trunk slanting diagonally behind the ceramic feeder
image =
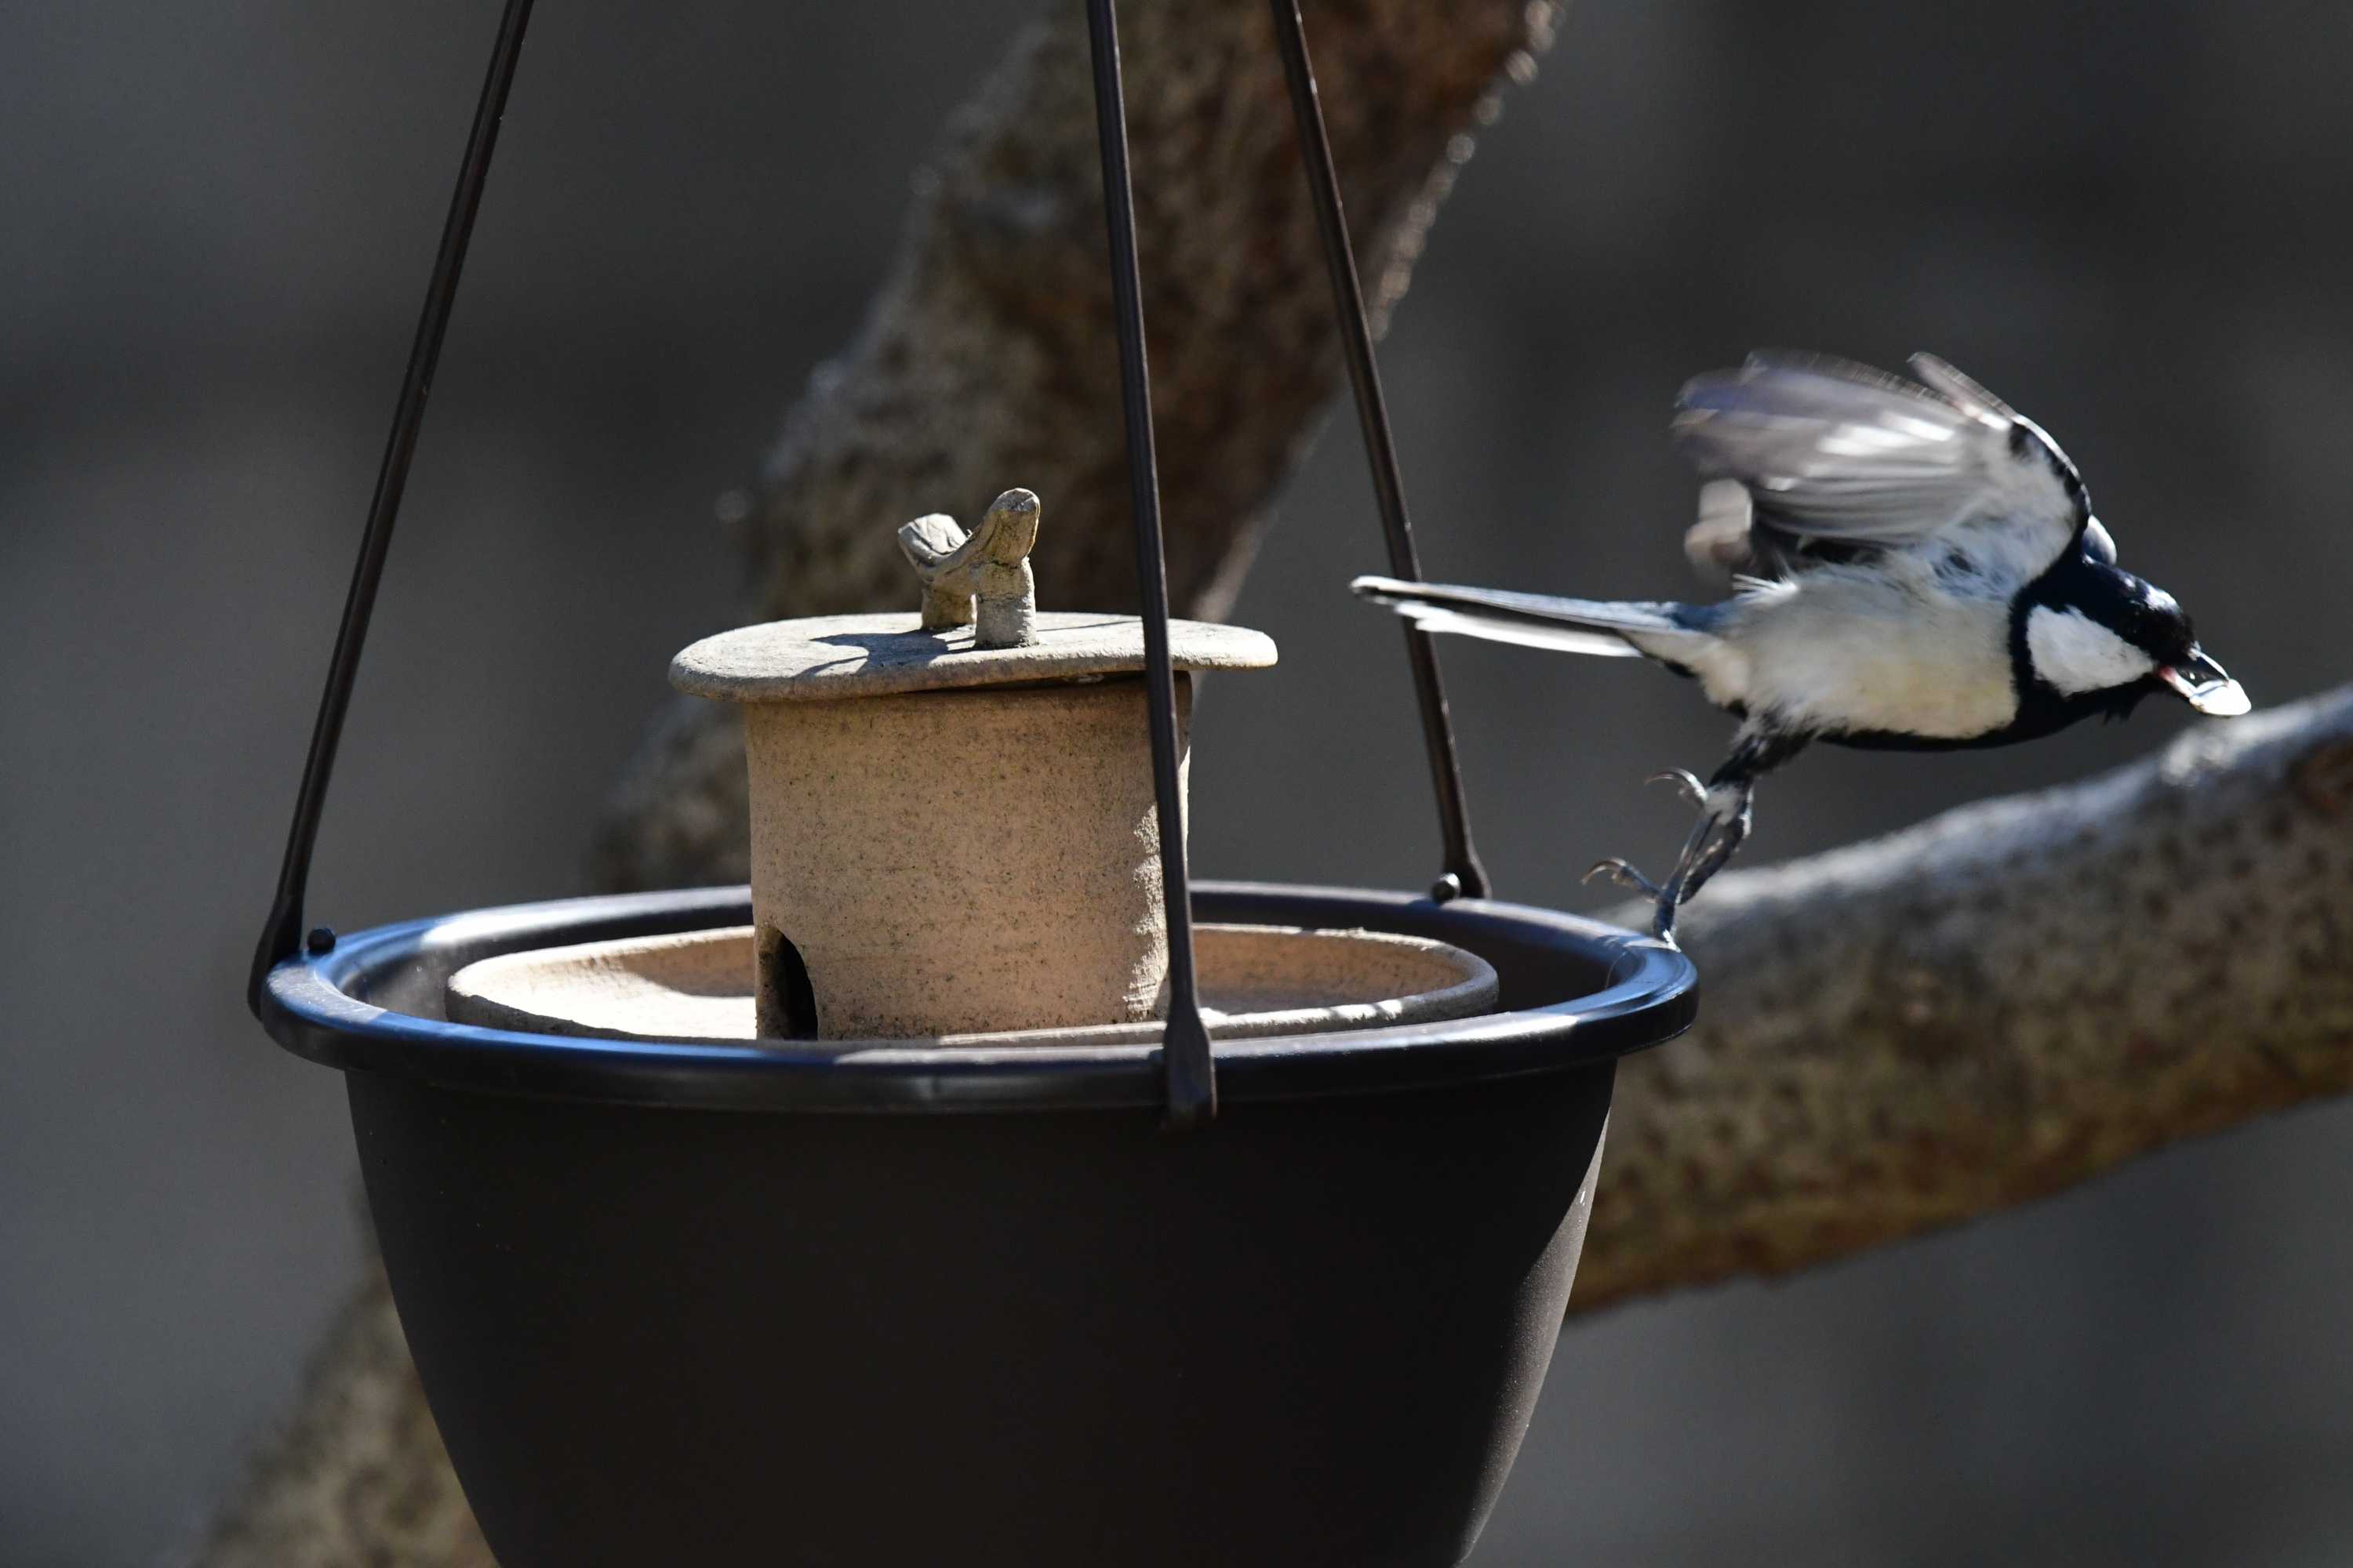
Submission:
MULTIPOLYGON (((1555 7, 1311 5, 1315 66, 1377 324, 1555 7)), ((1254 0, 1120 7, 1169 590, 1217 614, 1261 510, 1339 388, 1339 341, 1268 14, 1254 0)), ((1134 604, 1125 437, 1085 21, 1021 33, 915 181, 859 339, 819 367, 741 524, 741 618, 915 604, 894 529, 1045 498, 1047 609, 1134 604)), ((1369 527, 1369 524, 1367 524, 1369 527)), ((607 886, 741 879, 732 712, 664 710, 595 858, 607 886)), ((318 1352, 299 1410, 231 1500, 205 1568, 482 1568, 381 1269, 318 1352)))

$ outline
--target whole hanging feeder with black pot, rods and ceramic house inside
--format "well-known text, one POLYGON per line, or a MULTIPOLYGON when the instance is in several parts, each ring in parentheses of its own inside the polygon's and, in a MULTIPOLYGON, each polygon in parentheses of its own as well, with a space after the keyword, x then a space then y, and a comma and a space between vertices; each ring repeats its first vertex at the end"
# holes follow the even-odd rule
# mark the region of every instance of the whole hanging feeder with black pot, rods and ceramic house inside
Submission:
MULTIPOLYGON (((1111 0, 1087 16, 1144 614, 1038 609, 1026 491, 972 536, 918 520, 918 609, 673 665, 744 710, 753 886, 304 931, 527 16, 506 2, 249 985, 344 1072, 499 1563, 1459 1563, 1553 1356, 1614 1063, 1689 1025, 1694 976, 1487 896, 1412 630, 1431 893, 1191 882, 1191 682, 1273 644, 1169 618, 1111 0)), ((1275 40, 1412 576, 1289 5, 1275 40)))

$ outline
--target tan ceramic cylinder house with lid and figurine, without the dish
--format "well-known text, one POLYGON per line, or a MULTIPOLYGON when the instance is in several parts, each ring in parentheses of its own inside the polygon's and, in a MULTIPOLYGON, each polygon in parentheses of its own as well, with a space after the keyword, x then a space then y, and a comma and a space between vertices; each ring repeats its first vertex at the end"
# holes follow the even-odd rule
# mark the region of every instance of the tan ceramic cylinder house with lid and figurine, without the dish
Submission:
MULTIPOLYGON (((1052 1030, 1162 1006, 1144 630, 1040 616, 1031 491, 1007 491, 967 548, 1014 520, 1005 585, 967 585, 960 609, 927 581, 920 616, 751 625, 671 663, 682 691, 744 708, 760 1034, 1052 1030)), ((941 529, 920 520, 904 543, 941 529)), ((1181 780, 1191 672, 1259 670, 1275 649, 1195 621, 1169 625, 1169 649, 1181 780)))

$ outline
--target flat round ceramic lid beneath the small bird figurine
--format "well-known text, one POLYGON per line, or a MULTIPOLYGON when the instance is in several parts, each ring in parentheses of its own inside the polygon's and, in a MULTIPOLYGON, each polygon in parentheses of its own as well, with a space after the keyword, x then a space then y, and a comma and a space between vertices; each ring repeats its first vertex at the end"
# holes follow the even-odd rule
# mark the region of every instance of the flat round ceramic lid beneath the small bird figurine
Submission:
MULTIPOLYGON (((974 649, 972 628, 920 628, 920 616, 812 616, 704 637, 671 661, 671 684, 729 703, 802 703, 901 691, 1026 686, 1144 670, 1136 616, 1042 611, 1038 642, 974 649)), ((1179 670, 1266 670, 1275 644, 1245 625, 1169 621, 1179 670)))

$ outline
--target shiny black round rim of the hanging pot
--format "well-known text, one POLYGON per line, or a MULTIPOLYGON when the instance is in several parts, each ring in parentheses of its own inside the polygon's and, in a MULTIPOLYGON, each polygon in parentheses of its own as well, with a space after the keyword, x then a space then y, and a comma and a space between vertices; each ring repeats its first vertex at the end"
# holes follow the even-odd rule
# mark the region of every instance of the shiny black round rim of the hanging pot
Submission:
MULTIPOLYGON (((1473 1018, 1214 1041, 1224 1103, 1445 1088, 1560 1072, 1664 1044, 1697 1016, 1692 961, 1645 936, 1579 914, 1485 898, 1249 882, 1195 884, 1195 919, 1431 936, 1494 964, 1504 997, 1553 999, 1473 1018), (1562 994, 1574 992, 1574 994, 1562 994)), ((381 1006, 400 978, 440 997, 475 959, 621 936, 659 936, 751 917, 751 889, 607 893, 374 926, 268 973, 261 1023, 306 1060, 442 1088, 558 1100, 744 1112, 1038 1112, 1160 1107, 1158 1044, 1002 1048, 875 1041, 819 1051, 786 1044, 527 1034, 381 1006)))

